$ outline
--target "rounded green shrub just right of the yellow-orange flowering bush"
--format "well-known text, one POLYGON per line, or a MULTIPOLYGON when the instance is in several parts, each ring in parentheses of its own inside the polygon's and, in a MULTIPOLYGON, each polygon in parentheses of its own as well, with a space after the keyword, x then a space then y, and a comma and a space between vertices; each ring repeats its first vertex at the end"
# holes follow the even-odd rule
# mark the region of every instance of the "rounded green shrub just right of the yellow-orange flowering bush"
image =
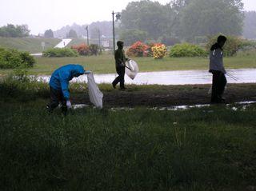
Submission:
POLYGON ((204 57, 206 55, 206 50, 189 43, 177 44, 170 50, 170 57, 204 57))

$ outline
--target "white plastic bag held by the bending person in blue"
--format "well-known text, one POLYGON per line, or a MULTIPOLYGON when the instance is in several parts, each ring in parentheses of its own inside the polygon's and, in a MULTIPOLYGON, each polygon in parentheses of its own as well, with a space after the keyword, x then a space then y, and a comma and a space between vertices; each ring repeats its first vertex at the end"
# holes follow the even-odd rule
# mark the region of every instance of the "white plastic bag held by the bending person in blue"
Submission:
POLYGON ((93 103, 97 108, 102 109, 103 94, 98 89, 98 86, 94 80, 94 74, 93 73, 88 74, 87 79, 88 79, 88 90, 89 90, 90 102, 93 103))

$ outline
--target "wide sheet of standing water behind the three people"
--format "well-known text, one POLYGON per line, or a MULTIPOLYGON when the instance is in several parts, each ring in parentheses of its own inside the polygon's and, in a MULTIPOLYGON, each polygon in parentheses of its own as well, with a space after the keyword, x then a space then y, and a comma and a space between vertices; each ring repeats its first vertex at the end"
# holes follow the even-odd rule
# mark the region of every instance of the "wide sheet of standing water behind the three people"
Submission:
MULTIPOLYGON (((256 83, 256 69, 228 70, 238 81, 226 75, 228 83, 256 83)), ((95 82, 110 84, 117 74, 94 74, 95 82)), ((38 76, 39 81, 49 82, 50 76, 38 76)), ((212 75, 207 70, 185 70, 139 73, 134 80, 125 77, 126 84, 134 85, 192 85, 211 84, 212 75)), ((87 76, 74 78, 71 82, 87 82, 87 76)))

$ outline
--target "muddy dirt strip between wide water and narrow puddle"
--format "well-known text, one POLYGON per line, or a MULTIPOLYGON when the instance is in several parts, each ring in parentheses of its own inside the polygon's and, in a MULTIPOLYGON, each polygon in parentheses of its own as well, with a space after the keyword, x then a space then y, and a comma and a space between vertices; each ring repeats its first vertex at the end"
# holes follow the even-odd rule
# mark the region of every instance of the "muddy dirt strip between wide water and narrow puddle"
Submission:
MULTIPOLYGON (((102 90, 104 107, 172 106, 207 104, 210 85, 194 86, 127 86, 122 90, 102 90)), ((71 93, 72 94, 72 93, 71 93)), ((226 103, 256 101, 256 84, 230 84, 223 95, 226 103)), ((74 104, 90 104, 88 93, 76 94, 74 104)))

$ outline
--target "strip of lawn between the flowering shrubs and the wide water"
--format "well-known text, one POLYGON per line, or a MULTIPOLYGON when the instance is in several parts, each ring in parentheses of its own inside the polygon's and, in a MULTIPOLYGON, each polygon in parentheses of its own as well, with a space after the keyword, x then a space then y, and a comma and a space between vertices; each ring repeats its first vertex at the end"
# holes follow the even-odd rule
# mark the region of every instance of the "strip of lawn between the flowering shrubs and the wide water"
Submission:
MULTIPOLYGON (((170 58, 162 60, 154 58, 133 58, 138 62, 140 72, 166 71, 166 70, 206 70, 209 66, 208 58, 170 58)), ((78 58, 36 58, 37 64, 30 69, 30 74, 47 74, 60 66, 69 63, 78 63, 91 70, 94 74, 115 73, 114 58, 112 55, 102 55, 98 57, 78 57, 78 58)), ((224 59, 227 69, 256 68, 256 54, 248 56, 236 56, 224 59)), ((0 70, 0 74, 9 73, 10 70, 0 70)))

